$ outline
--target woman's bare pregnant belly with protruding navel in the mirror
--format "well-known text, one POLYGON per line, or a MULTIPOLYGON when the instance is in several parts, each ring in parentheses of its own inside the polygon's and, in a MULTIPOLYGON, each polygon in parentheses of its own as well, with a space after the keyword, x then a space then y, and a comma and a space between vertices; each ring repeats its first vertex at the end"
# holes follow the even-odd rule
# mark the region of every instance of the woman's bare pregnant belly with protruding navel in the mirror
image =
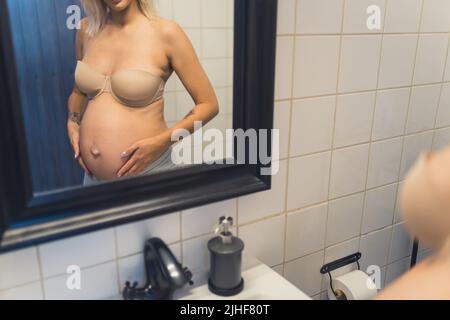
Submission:
POLYGON ((81 156, 97 179, 114 180, 128 160, 121 158, 127 148, 166 129, 162 100, 144 108, 129 108, 103 94, 91 101, 84 113, 81 156))

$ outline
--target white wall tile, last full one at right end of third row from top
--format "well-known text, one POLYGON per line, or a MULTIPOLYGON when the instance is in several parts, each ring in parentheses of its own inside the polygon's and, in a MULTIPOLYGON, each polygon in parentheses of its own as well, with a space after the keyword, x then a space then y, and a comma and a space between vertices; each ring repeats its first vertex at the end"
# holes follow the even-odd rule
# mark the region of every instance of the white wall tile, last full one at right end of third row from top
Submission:
POLYGON ((440 93, 440 84, 412 88, 407 134, 434 128, 440 93))

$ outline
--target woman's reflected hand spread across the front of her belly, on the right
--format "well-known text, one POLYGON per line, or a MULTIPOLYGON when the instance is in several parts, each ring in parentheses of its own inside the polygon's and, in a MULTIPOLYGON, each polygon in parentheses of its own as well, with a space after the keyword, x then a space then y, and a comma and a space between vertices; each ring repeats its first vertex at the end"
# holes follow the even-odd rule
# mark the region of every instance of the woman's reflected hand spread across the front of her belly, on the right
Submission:
POLYGON ((140 140, 122 153, 128 161, 120 168, 117 177, 136 176, 156 161, 170 147, 170 140, 161 134, 140 140))

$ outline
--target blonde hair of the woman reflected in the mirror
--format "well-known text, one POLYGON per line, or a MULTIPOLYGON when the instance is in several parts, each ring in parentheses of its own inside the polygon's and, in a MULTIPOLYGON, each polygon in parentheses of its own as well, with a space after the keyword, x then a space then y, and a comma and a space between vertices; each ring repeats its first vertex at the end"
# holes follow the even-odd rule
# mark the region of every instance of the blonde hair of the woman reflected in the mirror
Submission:
MULTIPOLYGON (((148 19, 155 15, 153 0, 136 1, 139 9, 148 19)), ((108 6, 104 0, 81 0, 81 4, 87 15, 88 26, 86 32, 90 37, 93 37, 100 32, 106 23, 109 12, 108 6)))

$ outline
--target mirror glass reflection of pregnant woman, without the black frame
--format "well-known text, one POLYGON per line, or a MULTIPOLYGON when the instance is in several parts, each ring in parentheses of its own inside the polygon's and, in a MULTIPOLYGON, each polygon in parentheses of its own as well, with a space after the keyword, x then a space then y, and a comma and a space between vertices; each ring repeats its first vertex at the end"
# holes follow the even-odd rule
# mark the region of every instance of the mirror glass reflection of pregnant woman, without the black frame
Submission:
POLYGON ((233 3, 8 0, 33 190, 229 156, 233 3))

